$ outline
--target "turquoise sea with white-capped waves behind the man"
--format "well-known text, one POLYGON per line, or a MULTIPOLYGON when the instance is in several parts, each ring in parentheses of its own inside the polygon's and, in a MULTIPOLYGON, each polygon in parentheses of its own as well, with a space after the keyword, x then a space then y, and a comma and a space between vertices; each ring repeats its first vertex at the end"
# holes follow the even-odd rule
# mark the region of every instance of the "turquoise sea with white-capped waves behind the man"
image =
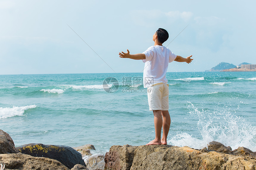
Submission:
MULTIPOLYGON (((168 72, 168 145, 256 151, 256 72, 168 72)), ((15 146, 77 147, 92 154, 155 137, 143 73, 0 75, 0 129, 15 146)))

